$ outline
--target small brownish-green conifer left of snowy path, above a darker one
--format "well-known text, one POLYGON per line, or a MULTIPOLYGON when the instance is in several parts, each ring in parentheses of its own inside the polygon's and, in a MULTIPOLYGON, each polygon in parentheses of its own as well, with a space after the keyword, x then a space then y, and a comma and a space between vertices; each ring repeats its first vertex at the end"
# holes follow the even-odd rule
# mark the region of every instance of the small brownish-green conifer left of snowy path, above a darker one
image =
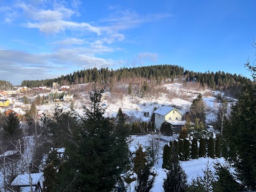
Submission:
POLYGON ((141 170, 143 170, 148 163, 146 158, 146 153, 143 152, 141 145, 135 152, 134 158, 134 172, 139 174, 141 170))

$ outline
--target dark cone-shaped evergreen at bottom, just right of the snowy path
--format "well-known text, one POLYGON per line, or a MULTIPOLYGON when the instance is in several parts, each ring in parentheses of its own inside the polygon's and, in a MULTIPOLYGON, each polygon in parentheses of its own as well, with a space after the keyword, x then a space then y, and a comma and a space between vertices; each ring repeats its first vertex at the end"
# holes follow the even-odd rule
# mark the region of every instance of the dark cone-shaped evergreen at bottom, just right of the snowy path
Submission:
POLYGON ((187 191, 187 179, 188 176, 185 171, 182 170, 179 162, 173 163, 170 171, 167 172, 167 177, 164 179, 163 188, 165 192, 185 192, 187 191))

